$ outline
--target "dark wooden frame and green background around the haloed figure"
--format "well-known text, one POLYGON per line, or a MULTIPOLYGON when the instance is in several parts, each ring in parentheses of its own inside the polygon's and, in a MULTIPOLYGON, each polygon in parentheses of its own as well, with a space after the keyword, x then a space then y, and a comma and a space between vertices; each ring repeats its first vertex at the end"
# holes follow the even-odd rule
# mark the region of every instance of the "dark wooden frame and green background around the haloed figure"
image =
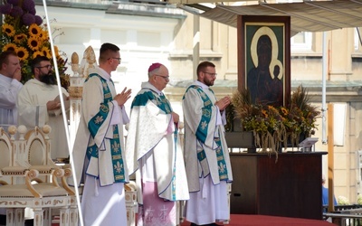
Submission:
POLYGON ((276 33, 275 36, 279 48, 282 43, 283 51, 278 52, 277 59, 281 59, 283 66, 283 105, 287 106, 291 97, 291 17, 289 16, 238 15, 238 89, 247 89, 248 63, 252 61, 247 57, 248 48, 250 50, 251 47, 248 37, 256 33, 252 33, 251 28, 255 30, 264 26, 272 31, 282 29, 283 36, 281 37, 280 33, 276 33))

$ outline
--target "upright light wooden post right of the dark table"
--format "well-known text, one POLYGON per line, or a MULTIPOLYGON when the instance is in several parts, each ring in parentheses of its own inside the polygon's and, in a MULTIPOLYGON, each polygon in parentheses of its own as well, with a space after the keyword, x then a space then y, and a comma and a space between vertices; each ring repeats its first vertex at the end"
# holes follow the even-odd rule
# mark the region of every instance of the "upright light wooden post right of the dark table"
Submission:
POLYGON ((329 184, 329 212, 334 212, 334 138, 333 138, 334 106, 328 105, 328 184, 329 184))

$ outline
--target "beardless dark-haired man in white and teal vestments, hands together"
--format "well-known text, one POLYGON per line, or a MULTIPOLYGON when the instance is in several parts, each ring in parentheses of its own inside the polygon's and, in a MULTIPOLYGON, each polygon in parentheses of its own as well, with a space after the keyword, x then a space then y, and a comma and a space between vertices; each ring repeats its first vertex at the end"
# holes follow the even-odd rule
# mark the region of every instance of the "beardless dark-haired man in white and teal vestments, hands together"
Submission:
POLYGON ((111 71, 120 63, 119 47, 100 47, 99 67, 90 69, 83 85, 81 121, 72 149, 75 182, 84 184, 84 226, 127 225, 124 184, 129 182, 123 126, 129 122, 124 104, 131 90, 117 94, 111 71))

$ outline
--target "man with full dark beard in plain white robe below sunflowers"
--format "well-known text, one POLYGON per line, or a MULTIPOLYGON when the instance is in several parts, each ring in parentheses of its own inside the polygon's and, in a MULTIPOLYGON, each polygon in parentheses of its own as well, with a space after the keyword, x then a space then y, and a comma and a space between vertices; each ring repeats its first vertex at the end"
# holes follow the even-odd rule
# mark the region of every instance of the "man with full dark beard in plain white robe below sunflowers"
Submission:
MULTIPOLYGON (((52 159, 66 158, 69 156, 69 151, 62 118, 61 99, 50 59, 45 56, 35 57, 32 61, 32 71, 34 78, 26 81, 19 92, 18 124, 28 129, 44 125, 52 127, 51 157, 52 159)), ((64 88, 62 88, 62 96, 68 112, 69 94, 64 88)))

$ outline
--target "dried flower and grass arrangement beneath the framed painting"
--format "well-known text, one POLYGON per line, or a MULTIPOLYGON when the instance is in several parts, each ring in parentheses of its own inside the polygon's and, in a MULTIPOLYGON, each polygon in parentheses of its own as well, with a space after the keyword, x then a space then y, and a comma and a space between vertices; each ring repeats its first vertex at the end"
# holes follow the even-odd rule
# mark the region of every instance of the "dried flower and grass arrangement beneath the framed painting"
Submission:
POLYGON ((262 151, 278 152, 281 144, 300 143, 300 135, 310 137, 317 127, 319 110, 310 105, 306 89, 300 86, 291 94, 289 105, 273 107, 262 103, 252 104, 250 93, 243 89, 233 93, 235 118, 239 118, 245 131, 252 131, 254 143, 262 151))

